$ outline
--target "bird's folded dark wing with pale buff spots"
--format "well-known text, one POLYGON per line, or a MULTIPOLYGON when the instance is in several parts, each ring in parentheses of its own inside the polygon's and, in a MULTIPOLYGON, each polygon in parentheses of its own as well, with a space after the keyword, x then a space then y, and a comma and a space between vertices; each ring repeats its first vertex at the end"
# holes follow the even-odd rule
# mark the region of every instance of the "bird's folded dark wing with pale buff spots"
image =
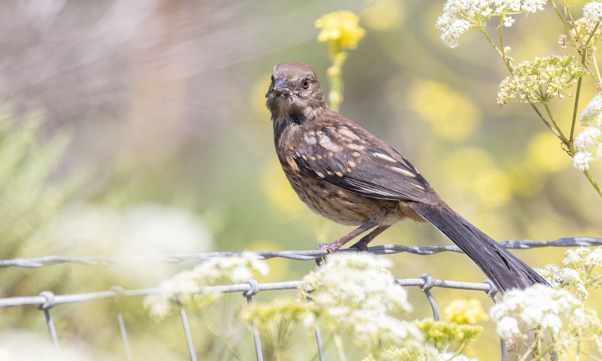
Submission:
POLYGON ((355 130, 337 125, 306 132, 305 141, 294 150, 297 165, 311 176, 362 196, 438 203, 428 182, 399 152, 364 129, 355 130))

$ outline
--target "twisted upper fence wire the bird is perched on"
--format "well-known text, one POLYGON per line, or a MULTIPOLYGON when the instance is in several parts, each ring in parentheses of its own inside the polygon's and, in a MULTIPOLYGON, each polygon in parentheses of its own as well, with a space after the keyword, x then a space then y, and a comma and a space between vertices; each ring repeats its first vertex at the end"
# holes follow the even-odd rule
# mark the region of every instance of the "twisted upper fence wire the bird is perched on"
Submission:
MULTIPOLYGON (((539 241, 533 239, 514 239, 499 243, 501 247, 508 249, 530 249, 541 247, 589 247, 602 245, 602 238, 595 237, 573 237, 559 238, 555 241, 539 241)), ((369 247, 374 255, 393 255, 395 253, 412 253, 414 255, 434 255, 435 253, 452 251, 462 253, 462 250, 456 245, 400 245, 387 244, 369 247)), ((357 251, 345 249, 340 251, 357 251)), ((324 250, 308 251, 253 251, 245 252, 252 254, 259 259, 285 258, 297 261, 308 261, 322 258, 327 255, 324 250)), ((75 263, 91 266, 111 266, 116 264, 129 264, 131 262, 161 262, 161 263, 181 263, 190 260, 204 261, 216 257, 240 256, 240 252, 209 252, 209 253, 167 253, 164 255, 147 255, 137 257, 111 258, 111 257, 72 257, 72 256, 43 256, 36 258, 13 258, 0 260, 0 268, 23 267, 38 268, 49 265, 75 263)))

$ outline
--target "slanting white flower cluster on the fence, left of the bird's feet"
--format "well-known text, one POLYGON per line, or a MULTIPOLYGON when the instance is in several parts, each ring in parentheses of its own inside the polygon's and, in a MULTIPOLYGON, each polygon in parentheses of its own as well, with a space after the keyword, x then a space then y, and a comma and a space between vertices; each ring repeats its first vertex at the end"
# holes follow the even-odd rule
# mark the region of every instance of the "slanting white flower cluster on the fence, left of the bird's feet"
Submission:
POLYGON ((144 307, 150 309, 153 316, 164 318, 173 309, 173 300, 181 304, 194 302, 198 307, 212 303, 222 294, 195 293, 196 289, 204 286, 222 284, 225 280, 232 283, 242 283, 253 277, 253 272, 267 275, 268 265, 259 261, 251 254, 242 256, 211 258, 197 265, 191 271, 176 274, 170 280, 159 284, 160 292, 144 298, 144 307))

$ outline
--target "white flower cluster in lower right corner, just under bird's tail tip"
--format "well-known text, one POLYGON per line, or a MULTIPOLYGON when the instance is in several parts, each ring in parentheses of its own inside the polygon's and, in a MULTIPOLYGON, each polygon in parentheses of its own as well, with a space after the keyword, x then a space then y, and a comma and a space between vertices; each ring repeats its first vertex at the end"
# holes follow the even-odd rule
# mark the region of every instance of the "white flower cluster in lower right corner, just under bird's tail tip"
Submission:
POLYGON ((579 336, 589 339, 600 350, 602 324, 594 310, 586 309, 577 298, 564 289, 535 285, 527 289, 513 289, 503 301, 489 310, 500 336, 520 336, 519 325, 541 326, 550 332, 556 349, 575 347, 579 336))

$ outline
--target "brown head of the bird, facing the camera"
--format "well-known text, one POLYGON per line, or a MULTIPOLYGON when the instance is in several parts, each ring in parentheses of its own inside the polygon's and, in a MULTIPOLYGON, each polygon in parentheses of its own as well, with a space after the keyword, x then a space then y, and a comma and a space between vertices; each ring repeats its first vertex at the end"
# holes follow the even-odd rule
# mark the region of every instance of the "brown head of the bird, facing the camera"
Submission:
POLYGON ((301 63, 280 63, 275 66, 272 84, 265 97, 265 105, 272 113, 272 119, 311 119, 318 109, 326 106, 314 70, 301 63))

